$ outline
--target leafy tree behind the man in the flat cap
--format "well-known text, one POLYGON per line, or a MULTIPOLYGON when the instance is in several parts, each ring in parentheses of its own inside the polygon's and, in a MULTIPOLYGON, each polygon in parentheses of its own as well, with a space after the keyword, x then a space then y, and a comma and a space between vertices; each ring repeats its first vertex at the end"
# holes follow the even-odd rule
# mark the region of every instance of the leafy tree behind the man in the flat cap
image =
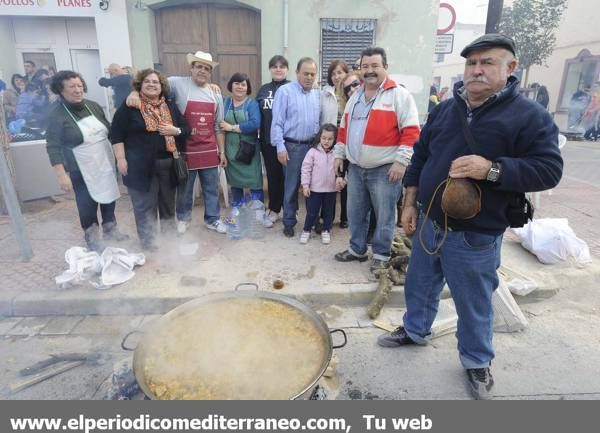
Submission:
POLYGON ((567 8, 567 0, 515 0, 502 10, 498 29, 513 38, 517 58, 525 70, 527 85, 532 65, 547 66, 556 45, 555 30, 567 8))

